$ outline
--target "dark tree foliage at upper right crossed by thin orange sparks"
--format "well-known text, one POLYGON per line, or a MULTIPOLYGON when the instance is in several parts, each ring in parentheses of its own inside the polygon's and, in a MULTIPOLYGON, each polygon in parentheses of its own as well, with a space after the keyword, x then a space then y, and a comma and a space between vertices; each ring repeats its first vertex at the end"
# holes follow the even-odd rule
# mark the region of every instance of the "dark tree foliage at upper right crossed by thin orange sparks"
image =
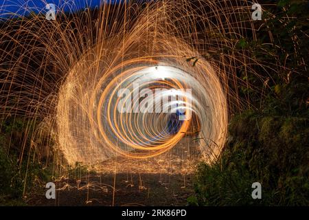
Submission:
MULTIPOLYGON (((260 107, 261 88, 264 88, 264 94, 271 96, 271 99, 278 98, 277 92, 287 91, 284 87, 290 86, 293 81, 295 83, 295 79, 297 83, 293 86, 308 89, 308 1, 281 0, 277 5, 269 5, 268 1, 260 3, 265 4, 265 11, 262 21, 253 23, 258 29, 254 36, 248 32, 238 39, 239 36, 233 34, 219 36, 214 33, 216 37, 236 45, 227 47, 225 54, 240 54, 240 57, 247 54, 258 63, 250 65, 252 62, 247 61, 245 66, 240 63, 236 73, 241 79, 235 88, 238 90, 238 96, 250 102, 253 107, 260 107), (268 94, 274 87, 277 89, 276 93, 268 94)), ((248 18, 238 19, 247 21, 248 18)), ((231 88, 233 83, 231 82, 231 88)), ((282 97, 291 98, 285 94, 282 94, 282 97)), ((286 110, 286 107, 283 109, 286 110)))

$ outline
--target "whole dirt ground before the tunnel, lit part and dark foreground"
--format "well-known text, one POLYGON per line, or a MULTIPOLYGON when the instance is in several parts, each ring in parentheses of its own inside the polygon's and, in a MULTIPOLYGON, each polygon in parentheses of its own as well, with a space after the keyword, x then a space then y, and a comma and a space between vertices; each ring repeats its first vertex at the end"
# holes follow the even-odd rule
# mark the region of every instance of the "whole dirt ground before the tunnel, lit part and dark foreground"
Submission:
POLYGON ((30 193, 27 205, 185 206, 194 193, 192 179, 200 157, 192 138, 184 137, 165 155, 144 160, 117 157, 100 164, 97 173, 62 177, 56 181, 56 199, 46 199, 43 186, 30 193))

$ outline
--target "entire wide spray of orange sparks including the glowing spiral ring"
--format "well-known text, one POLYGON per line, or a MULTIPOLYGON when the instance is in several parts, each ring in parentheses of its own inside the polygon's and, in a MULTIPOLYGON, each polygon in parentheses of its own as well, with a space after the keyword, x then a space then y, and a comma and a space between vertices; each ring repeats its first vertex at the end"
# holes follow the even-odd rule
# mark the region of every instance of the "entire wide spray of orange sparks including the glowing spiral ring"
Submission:
POLYGON ((30 151, 52 147, 55 164, 63 155, 68 164, 94 165, 174 154, 190 137, 199 152, 193 162, 216 159, 229 113, 246 104, 229 85, 251 87, 236 72, 258 75, 252 66, 263 67, 246 50, 232 51, 246 30, 255 35, 251 3, 102 1, 95 10, 71 8, 58 8, 55 21, 40 14, 9 19, 0 30, 1 118, 30 120, 30 151))

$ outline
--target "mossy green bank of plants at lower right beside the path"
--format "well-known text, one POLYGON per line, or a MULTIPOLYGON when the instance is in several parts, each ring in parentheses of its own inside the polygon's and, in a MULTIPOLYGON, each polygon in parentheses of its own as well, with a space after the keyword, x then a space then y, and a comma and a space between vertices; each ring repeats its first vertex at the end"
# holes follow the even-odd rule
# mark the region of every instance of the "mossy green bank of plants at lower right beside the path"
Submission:
POLYGON ((221 159, 198 168, 197 204, 308 206, 308 123, 252 111, 236 116, 221 159), (262 199, 251 197, 255 181, 262 184, 262 199))

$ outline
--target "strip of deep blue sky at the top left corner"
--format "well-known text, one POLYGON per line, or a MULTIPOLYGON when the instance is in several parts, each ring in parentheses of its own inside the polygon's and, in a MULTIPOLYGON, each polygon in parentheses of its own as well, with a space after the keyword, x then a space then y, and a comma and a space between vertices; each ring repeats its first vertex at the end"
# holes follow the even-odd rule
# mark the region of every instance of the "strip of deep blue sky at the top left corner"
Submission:
POLYGON ((116 3, 124 0, 0 0, 0 18, 10 17, 12 13, 25 15, 31 11, 46 12, 46 3, 54 3, 56 8, 64 8, 65 11, 69 11, 72 8, 73 10, 79 10, 87 6, 94 8, 103 1, 116 3))

